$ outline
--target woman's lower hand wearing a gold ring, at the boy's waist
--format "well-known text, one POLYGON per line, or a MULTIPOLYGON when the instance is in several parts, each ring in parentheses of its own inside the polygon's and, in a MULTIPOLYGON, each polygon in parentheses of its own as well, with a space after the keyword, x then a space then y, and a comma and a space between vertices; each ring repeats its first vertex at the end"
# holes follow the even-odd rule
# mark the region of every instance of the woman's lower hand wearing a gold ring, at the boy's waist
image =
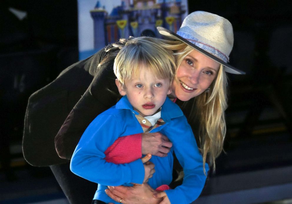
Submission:
POLYGON ((123 204, 158 204, 162 198, 154 198, 153 194, 158 193, 147 183, 134 186, 108 186, 105 193, 113 200, 123 204))

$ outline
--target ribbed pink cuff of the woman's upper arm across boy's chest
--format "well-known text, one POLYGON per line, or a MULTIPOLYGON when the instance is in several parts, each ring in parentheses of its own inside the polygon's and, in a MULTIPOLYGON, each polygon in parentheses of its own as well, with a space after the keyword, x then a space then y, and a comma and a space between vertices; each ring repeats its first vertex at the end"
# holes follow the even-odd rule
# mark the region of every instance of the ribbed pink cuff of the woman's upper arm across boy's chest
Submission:
POLYGON ((118 138, 104 152, 105 160, 115 164, 130 163, 142 157, 142 134, 118 138))

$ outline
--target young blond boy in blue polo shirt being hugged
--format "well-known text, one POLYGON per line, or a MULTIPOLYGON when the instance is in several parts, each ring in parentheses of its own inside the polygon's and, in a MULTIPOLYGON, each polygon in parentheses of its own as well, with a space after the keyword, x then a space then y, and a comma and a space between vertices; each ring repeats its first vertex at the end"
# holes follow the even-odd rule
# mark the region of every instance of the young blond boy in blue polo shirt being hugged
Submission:
POLYGON ((202 190, 196 180, 205 179, 205 175, 192 130, 180 108, 167 97, 175 73, 172 52, 165 50, 159 39, 131 39, 117 54, 114 72, 123 97, 87 127, 73 153, 72 172, 99 184, 94 200, 117 203, 105 194, 108 185, 148 182, 155 189, 170 184, 171 153, 175 152, 185 179, 181 186, 165 193, 171 203, 191 203, 202 190), (118 137, 158 131, 170 139, 173 147, 166 157, 151 157, 155 170, 152 163, 143 164, 141 159, 126 164, 104 160, 104 151, 118 137))

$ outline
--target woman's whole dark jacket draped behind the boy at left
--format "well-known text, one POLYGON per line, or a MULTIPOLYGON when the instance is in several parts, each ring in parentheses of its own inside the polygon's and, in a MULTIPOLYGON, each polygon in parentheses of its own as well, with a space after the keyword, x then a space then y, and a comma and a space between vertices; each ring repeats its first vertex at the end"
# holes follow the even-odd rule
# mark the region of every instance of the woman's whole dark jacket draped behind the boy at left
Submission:
POLYGON ((67 159, 89 123, 115 105, 120 98, 113 72, 118 50, 102 49, 69 66, 52 83, 30 96, 22 143, 28 163, 48 166, 69 162, 67 159), (55 145, 59 155, 67 159, 58 156, 55 145))

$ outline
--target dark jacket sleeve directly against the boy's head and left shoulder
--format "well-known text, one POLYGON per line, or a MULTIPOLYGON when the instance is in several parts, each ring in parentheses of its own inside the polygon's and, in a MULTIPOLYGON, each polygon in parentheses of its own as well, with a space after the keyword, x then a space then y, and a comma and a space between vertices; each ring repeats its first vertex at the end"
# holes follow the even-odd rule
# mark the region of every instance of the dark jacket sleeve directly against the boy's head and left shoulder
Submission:
MULTIPOLYGON (((59 157, 71 159, 73 151, 89 123, 100 113, 115 105, 119 100, 113 72, 114 57, 99 65, 108 57, 99 51, 86 63, 84 69, 89 70, 94 78, 85 93, 75 104, 55 137, 55 148, 59 157)), ((78 80, 78 76, 76 76, 78 80)), ((72 88, 70 93, 74 93, 72 88)))

